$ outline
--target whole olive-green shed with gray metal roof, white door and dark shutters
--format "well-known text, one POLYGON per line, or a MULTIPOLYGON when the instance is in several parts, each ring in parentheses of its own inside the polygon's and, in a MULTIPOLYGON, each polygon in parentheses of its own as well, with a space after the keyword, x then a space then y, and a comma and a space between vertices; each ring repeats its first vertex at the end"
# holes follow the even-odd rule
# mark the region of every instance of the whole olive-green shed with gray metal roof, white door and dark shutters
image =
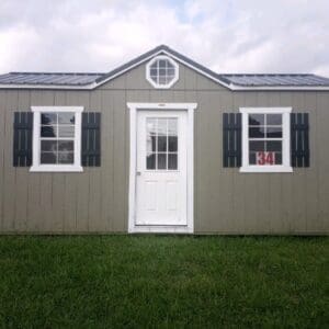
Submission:
POLYGON ((2 234, 327 235, 329 79, 222 75, 161 45, 0 76, 2 234))

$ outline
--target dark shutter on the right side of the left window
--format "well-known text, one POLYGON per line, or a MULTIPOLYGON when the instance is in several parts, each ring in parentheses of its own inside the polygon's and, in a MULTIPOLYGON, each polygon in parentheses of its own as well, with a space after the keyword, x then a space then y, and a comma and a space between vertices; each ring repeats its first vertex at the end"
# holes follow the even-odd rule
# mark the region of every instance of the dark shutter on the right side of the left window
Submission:
POLYGON ((101 166, 101 113, 82 113, 81 160, 83 167, 101 166))

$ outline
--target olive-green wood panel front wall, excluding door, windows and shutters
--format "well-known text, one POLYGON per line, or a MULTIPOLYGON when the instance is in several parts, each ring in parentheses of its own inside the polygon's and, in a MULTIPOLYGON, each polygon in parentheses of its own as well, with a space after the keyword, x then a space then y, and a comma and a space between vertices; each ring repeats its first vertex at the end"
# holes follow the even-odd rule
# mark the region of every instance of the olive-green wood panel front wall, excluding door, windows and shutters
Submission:
POLYGON ((145 66, 92 91, 0 90, 0 228, 2 232, 126 232, 127 102, 196 102, 194 230, 198 234, 329 232, 329 92, 232 92, 180 65, 180 80, 156 90, 145 66), (102 113, 102 163, 82 173, 30 173, 12 166, 13 113, 31 105, 82 105, 102 113), (239 173, 223 168, 223 112, 292 106, 309 112, 310 168, 239 173))

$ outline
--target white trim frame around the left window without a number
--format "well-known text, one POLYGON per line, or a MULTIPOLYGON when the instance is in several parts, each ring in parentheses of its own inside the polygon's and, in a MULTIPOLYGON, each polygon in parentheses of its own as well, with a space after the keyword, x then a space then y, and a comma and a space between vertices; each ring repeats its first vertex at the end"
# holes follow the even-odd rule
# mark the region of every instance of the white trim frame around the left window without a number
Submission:
POLYGON ((33 112, 33 164, 31 172, 81 172, 81 113, 83 106, 31 106, 33 112), (41 164, 39 126, 41 113, 44 112, 75 112, 75 163, 73 164, 41 164))

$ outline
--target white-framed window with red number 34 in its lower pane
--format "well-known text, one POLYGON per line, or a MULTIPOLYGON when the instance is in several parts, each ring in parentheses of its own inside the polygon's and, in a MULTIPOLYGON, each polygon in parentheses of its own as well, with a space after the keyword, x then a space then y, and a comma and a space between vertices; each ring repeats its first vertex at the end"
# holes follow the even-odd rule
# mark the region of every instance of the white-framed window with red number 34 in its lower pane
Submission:
POLYGON ((291 107, 243 107, 242 172, 291 172, 291 107))

